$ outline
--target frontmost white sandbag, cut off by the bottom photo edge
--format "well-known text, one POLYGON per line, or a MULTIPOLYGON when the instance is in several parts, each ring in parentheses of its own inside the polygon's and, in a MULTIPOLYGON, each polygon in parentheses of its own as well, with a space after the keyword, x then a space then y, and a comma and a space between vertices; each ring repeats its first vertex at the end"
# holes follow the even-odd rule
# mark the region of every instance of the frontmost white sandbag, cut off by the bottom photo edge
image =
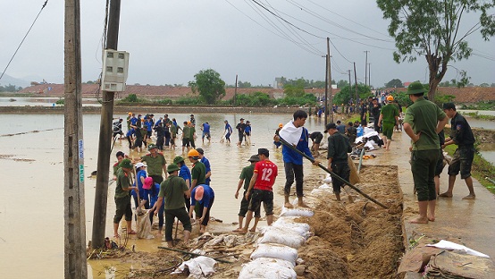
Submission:
POLYGON ((239 274, 239 279, 296 279, 297 277, 293 266, 288 261, 278 258, 256 258, 243 265, 239 274))

